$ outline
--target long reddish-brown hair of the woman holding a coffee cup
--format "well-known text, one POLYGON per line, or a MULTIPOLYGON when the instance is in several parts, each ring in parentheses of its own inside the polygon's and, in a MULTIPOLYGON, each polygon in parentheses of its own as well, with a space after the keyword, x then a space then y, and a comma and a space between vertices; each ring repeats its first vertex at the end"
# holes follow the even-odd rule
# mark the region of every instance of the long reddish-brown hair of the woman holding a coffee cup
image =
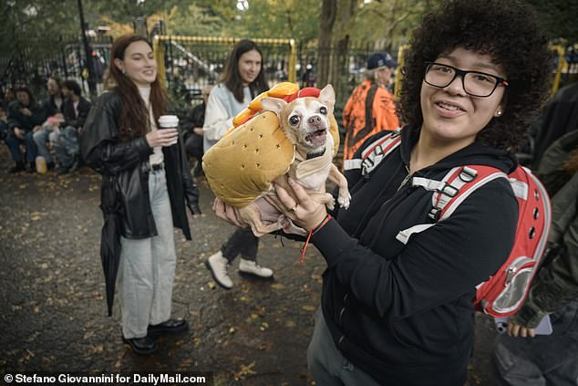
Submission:
MULTIPOLYGON (((127 47, 140 41, 147 43, 151 47, 145 37, 127 34, 117 38, 112 48, 110 48, 110 63, 108 64, 104 86, 106 89, 116 90, 122 99, 122 110, 119 122, 117 122, 119 125, 119 139, 121 140, 141 137, 150 131, 149 111, 140 97, 139 89, 114 64, 115 59, 124 60, 127 47)), ((157 74, 157 78, 150 84, 150 107, 156 122, 165 113, 166 103, 166 91, 160 84, 159 74, 157 74)))

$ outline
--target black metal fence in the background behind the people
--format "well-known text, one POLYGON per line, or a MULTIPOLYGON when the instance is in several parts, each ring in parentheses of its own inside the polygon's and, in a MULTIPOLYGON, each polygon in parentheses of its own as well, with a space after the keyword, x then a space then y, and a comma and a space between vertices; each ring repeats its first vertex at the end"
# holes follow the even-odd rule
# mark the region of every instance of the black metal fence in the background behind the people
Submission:
MULTIPOLYGON (((88 71, 86 51, 79 37, 63 37, 59 47, 54 47, 51 57, 35 57, 29 48, 18 52, 0 52, 0 85, 2 88, 26 85, 35 92, 38 99, 46 97, 46 78, 74 78, 88 94, 88 74, 91 73, 102 91, 102 78, 108 66, 112 37, 88 37, 92 71, 88 71)), ((226 57, 232 50, 231 44, 211 42, 163 42, 165 76, 173 102, 182 109, 190 108, 201 101, 202 89, 219 81, 226 57)), ((578 80, 578 46, 563 48, 563 63, 557 59, 555 67, 561 64, 560 87, 578 80)), ((289 76, 289 48, 282 45, 260 46, 263 51, 263 67, 271 85, 286 81, 289 76)), ((373 51, 383 50, 374 44, 350 43, 348 52, 332 51, 332 60, 340 63, 341 89, 337 95, 337 110, 343 107, 350 92, 364 77, 366 58, 373 51)), ((315 45, 296 44, 296 82, 300 87, 317 86, 318 50, 315 45)), ((395 58, 397 52, 390 52, 395 58)))

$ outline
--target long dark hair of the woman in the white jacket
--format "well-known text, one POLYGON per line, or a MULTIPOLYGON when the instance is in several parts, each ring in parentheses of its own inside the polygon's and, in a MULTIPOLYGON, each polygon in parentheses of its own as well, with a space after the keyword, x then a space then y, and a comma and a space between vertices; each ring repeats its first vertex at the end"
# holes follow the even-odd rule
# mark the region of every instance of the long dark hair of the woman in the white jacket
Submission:
POLYGON ((243 39, 232 47, 231 55, 227 57, 225 70, 222 74, 222 83, 224 83, 227 89, 232 92, 232 95, 239 102, 243 102, 243 78, 241 78, 241 74, 239 73, 239 59, 244 53, 253 51, 253 49, 261 55, 261 71, 259 71, 257 78, 249 84, 251 97, 255 98, 257 94, 269 89, 267 80, 265 79, 263 53, 261 52, 261 49, 255 42, 253 42, 253 40, 243 39))

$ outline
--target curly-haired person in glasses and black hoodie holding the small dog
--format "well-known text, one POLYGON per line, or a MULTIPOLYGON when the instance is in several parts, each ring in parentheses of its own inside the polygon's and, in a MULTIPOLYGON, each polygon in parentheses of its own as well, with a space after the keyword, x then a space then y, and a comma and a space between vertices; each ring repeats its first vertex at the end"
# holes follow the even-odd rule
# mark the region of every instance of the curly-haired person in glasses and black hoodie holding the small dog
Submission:
POLYGON ((475 287, 514 241, 510 183, 486 183, 407 244, 397 235, 432 224, 433 193, 414 186, 415 178, 439 181, 469 164, 506 173, 517 166, 513 151, 548 94, 547 42, 520 1, 447 1, 411 38, 400 145, 366 178, 346 172, 349 209, 330 217, 299 185, 276 187, 284 214, 310 232, 327 262, 307 351, 318 384, 464 385, 475 287))

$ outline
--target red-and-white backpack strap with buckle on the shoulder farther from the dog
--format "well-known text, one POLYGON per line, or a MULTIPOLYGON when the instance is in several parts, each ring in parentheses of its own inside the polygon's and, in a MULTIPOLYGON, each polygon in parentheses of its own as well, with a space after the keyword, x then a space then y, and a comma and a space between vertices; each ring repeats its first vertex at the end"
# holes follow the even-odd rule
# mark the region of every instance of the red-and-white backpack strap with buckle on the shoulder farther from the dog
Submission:
POLYGON ((411 179, 412 186, 434 192, 431 196, 431 210, 428 213, 428 217, 434 223, 418 224, 404 229, 397 234, 397 240, 403 244, 408 244, 411 235, 423 232, 439 221, 447 219, 471 193, 497 178, 508 179, 508 175, 485 165, 455 167, 446 173, 441 181, 413 177, 411 179))

